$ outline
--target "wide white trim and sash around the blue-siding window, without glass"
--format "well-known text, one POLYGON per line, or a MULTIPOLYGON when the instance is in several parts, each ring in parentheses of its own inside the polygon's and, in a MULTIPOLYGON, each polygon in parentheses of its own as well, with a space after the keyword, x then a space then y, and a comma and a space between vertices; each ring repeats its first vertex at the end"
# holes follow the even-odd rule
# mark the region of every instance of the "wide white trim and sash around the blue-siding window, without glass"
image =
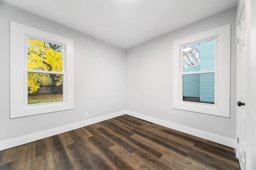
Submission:
POLYGON ((230 24, 173 42, 173 108, 230 117, 230 24), (183 101, 180 48, 185 44, 192 44, 193 42, 203 41, 211 37, 217 37, 214 71, 215 102, 214 104, 203 104, 183 101))

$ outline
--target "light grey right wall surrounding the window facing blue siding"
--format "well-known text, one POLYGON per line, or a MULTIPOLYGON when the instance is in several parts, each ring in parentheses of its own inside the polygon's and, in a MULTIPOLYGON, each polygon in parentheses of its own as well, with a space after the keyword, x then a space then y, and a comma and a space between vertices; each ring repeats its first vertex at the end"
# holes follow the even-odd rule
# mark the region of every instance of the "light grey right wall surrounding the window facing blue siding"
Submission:
POLYGON ((233 8, 128 49, 126 110, 203 131, 204 134, 210 133, 232 139, 234 145, 236 139, 235 20, 236 9, 233 8), (230 118, 173 109, 173 41, 228 23, 231 23, 230 118))

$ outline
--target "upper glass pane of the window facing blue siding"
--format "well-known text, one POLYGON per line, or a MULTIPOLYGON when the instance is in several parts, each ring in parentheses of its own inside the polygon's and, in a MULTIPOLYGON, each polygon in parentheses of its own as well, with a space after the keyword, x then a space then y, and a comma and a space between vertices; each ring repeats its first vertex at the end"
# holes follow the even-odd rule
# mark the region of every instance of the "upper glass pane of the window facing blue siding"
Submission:
POLYGON ((182 47, 183 72, 215 69, 215 39, 182 47))

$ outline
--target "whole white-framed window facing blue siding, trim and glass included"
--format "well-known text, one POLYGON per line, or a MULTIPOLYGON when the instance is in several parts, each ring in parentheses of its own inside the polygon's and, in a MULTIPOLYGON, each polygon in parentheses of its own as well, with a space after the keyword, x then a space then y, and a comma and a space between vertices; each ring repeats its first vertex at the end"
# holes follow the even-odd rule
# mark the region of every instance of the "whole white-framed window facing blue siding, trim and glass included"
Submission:
POLYGON ((173 42, 173 108, 230 116, 230 24, 173 42))

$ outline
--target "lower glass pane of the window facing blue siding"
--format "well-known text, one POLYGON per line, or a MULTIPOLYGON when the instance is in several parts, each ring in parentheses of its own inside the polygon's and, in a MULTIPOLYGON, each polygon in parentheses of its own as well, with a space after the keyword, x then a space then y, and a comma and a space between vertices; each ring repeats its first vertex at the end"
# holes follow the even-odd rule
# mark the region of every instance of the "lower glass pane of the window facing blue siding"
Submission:
POLYGON ((214 73, 183 75, 183 101, 214 104, 214 73))

